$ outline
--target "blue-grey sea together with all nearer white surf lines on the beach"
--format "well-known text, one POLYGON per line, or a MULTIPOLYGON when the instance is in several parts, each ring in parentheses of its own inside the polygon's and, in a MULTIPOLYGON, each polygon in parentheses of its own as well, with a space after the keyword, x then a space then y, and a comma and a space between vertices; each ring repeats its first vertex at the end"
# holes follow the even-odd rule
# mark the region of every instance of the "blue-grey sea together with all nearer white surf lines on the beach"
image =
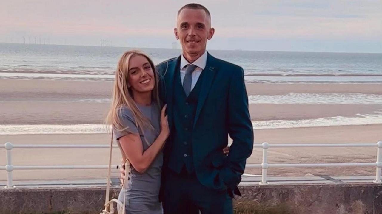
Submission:
MULTIPOLYGON (((0 79, 112 81, 121 54, 131 48, 29 45, 0 43, 0 79)), ((179 56, 180 50, 141 48, 159 63, 179 56)), ((270 51, 209 51, 215 57, 243 67, 245 80, 254 83, 382 83, 382 54, 305 53, 270 51)), ((305 120, 253 121, 254 129, 296 128, 382 123, 382 95, 371 93, 288 93, 250 95, 250 104, 361 104, 381 109, 351 117, 320 117, 305 120)), ((23 98, 23 101, 109 103, 98 98, 23 98)), ((0 97, 0 103, 18 101, 0 97)), ((106 133, 102 124, 0 125, 0 134, 106 133)))

